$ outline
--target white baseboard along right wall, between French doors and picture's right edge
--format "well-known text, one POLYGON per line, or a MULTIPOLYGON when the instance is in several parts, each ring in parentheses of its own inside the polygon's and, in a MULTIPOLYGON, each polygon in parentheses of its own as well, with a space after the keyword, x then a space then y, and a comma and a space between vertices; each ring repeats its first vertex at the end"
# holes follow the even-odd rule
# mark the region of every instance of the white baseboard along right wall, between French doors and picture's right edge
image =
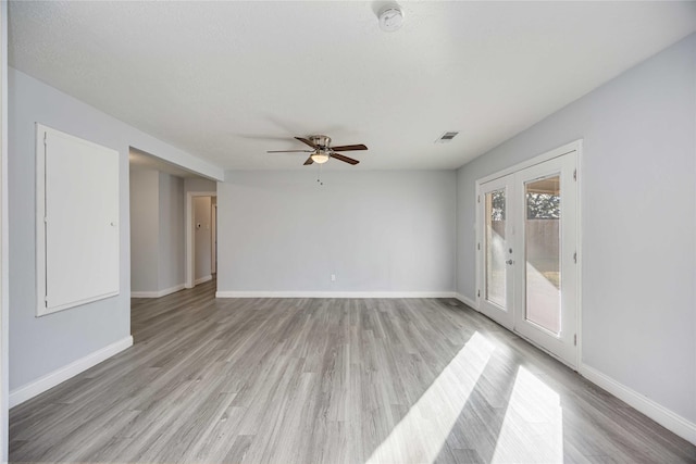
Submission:
POLYGON ((580 364, 580 375, 642 412, 662 427, 696 444, 696 424, 661 404, 618 383, 587 364, 580 364))

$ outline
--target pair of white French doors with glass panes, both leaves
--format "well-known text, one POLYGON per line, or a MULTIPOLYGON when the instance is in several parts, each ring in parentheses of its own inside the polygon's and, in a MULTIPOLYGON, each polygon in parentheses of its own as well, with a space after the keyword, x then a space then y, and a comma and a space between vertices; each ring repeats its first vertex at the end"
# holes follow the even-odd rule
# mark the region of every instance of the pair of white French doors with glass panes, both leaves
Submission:
POLYGON ((478 309, 577 365, 576 151, 478 184, 478 309))

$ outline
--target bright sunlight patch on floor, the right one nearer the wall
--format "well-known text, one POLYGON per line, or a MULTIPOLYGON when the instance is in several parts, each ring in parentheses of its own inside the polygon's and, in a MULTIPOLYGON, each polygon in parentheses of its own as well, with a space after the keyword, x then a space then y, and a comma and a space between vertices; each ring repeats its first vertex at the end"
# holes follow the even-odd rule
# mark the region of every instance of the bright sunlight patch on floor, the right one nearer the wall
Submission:
POLYGON ((560 397, 520 366, 490 462, 563 462, 560 397))

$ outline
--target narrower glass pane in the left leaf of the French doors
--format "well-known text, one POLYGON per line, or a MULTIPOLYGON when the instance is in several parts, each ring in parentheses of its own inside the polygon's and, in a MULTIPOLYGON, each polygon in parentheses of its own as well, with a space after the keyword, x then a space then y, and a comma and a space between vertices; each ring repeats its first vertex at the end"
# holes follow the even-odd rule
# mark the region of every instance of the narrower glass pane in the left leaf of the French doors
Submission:
POLYGON ((505 309, 506 253, 505 253, 505 189, 486 193, 486 300, 505 309))

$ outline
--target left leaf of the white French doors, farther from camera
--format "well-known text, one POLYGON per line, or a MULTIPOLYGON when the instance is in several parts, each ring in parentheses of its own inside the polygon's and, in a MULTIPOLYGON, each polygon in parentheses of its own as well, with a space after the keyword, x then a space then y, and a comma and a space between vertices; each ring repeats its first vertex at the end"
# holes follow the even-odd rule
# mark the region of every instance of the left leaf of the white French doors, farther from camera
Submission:
POLYGON ((480 310, 498 324, 513 328, 512 275, 512 175, 481 185, 478 192, 481 223, 480 310))

